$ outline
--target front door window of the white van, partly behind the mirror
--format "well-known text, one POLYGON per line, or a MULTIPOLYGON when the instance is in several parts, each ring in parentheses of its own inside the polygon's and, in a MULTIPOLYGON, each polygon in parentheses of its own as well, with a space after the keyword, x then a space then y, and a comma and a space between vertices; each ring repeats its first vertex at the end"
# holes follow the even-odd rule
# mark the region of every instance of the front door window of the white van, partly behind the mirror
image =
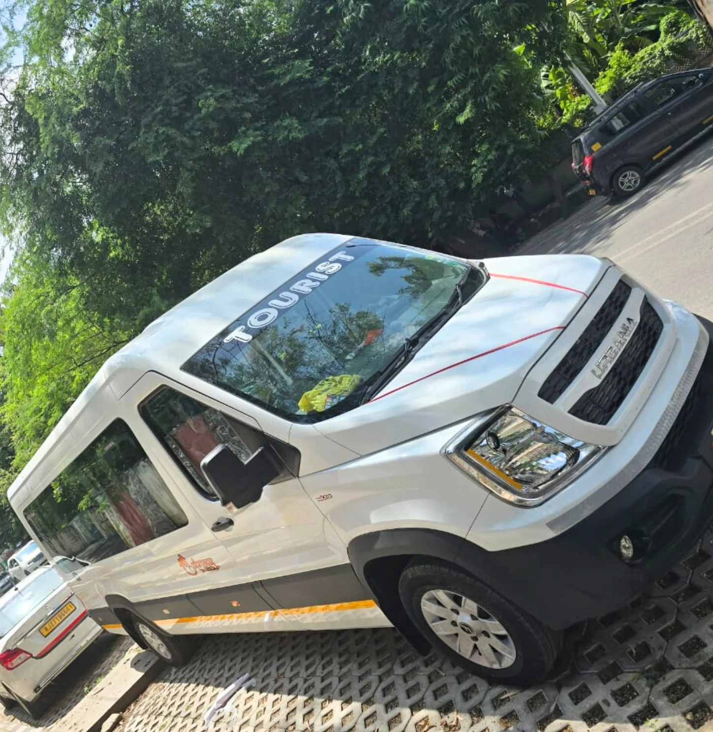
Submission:
POLYGON ((217 498, 200 469, 200 461, 208 452, 224 444, 246 463, 265 444, 263 433, 168 386, 148 397, 140 413, 195 488, 207 498, 217 498))

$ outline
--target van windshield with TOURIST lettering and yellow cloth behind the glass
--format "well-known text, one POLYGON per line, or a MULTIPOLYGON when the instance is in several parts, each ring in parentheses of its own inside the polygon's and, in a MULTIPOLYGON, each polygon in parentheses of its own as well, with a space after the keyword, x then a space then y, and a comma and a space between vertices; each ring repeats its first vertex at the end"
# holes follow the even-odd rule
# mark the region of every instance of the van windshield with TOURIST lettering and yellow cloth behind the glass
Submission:
POLYGON ((329 417, 338 405, 358 406, 369 379, 443 310, 470 269, 446 256, 352 239, 183 368, 295 421, 329 417))

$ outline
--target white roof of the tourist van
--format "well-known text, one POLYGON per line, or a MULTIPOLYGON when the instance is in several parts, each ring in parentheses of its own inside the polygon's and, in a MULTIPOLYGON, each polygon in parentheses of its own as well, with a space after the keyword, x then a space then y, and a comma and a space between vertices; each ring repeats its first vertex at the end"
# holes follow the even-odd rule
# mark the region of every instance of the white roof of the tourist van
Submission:
POLYGON ((105 398, 116 401, 148 371, 175 378, 190 356, 246 310, 301 269, 353 238, 343 234, 302 234, 285 239, 216 277, 156 318, 99 369, 12 482, 8 498, 12 499, 26 483, 40 482, 45 474, 53 472, 56 459, 43 465, 45 458, 70 427, 74 427, 79 438, 98 421, 101 410, 87 408, 97 397, 101 400, 102 392, 110 392, 105 398))

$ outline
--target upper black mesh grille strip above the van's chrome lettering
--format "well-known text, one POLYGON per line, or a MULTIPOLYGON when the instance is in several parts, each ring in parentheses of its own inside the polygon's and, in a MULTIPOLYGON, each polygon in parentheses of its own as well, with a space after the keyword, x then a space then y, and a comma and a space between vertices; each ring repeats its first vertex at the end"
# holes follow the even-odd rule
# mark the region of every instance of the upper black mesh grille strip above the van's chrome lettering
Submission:
POLYGON ((567 386, 574 381, 578 373, 586 366, 586 362, 594 356, 604 337, 614 326, 619 315, 622 314, 630 294, 630 286, 619 280, 616 287, 604 301, 604 305, 592 318, 592 322, 586 326, 576 343, 567 351, 562 361, 546 378, 545 383, 540 386, 540 391, 537 392, 540 399, 554 404, 562 396, 567 386))

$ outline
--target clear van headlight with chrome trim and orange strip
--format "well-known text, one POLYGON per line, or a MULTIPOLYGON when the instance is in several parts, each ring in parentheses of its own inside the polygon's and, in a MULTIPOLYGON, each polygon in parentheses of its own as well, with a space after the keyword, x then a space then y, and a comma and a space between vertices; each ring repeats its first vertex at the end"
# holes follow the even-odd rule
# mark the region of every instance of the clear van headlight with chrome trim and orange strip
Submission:
POLYGON ((461 433, 445 456, 500 498, 535 506, 565 488, 603 449, 565 435, 513 407, 475 432, 461 433))

